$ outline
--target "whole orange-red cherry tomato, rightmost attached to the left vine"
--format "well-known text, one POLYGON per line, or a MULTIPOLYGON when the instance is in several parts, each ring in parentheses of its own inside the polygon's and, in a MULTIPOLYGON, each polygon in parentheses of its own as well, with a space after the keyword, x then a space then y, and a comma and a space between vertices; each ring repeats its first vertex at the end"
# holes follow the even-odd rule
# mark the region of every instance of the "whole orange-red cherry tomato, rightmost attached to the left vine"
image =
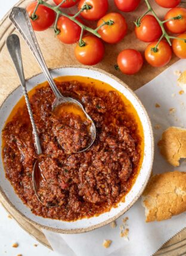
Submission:
POLYGON ((103 24, 104 21, 111 21, 111 24, 106 24, 98 30, 101 38, 110 44, 116 44, 121 41, 127 31, 125 18, 120 13, 108 13, 98 21, 97 27, 103 24))

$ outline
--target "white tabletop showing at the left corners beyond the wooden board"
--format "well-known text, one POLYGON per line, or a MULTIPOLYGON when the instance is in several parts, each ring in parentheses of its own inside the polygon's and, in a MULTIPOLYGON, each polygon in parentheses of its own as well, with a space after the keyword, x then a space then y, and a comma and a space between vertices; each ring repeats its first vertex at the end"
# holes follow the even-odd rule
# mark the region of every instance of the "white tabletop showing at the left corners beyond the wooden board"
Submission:
MULTIPOLYGON (((0 20, 10 8, 16 4, 18 0, 0 0, 0 20)), ((1 35, 0 35, 1 36, 1 35)), ((38 243, 30 235, 28 235, 21 227, 18 226, 16 221, 7 217, 8 213, 0 205, 0 255, 1 256, 16 256, 22 254, 23 256, 57 256, 41 243, 38 243), (11 245, 18 242, 18 248, 12 248, 11 245), (33 246, 37 244, 38 246, 33 246)))

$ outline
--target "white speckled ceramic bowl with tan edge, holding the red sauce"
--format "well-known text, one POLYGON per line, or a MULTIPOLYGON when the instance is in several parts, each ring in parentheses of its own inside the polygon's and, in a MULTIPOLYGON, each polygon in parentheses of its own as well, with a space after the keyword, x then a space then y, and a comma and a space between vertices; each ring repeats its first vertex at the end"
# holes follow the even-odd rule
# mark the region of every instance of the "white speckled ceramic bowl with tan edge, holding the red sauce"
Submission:
MULTIPOLYGON (((145 186, 147 185, 148 179, 150 178, 151 168, 153 165, 154 157, 154 141, 153 132, 151 129, 151 122, 148 118, 147 112, 142 106, 141 101, 139 101, 137 95, 122 81, 107 72, 95 68, 82 68, 82 67, 62 67, 59 69, 51 70, 51 75, 53 78, 58 76, 86 76, 89 78, 98 79, 100 81, 110 84, 116 90, 122 92, 126 98, 133 104, 137 110, 138 116, 141 119, 142 127, 144 130, 144 159, 140 172, 138 174, 137 180, 135 181, 132 189, 125 197, 125 202, 120 202, 117 208, 112 208, 109 212, 99 215, 98 217, 83 218, 82 220, 77 220, 73 222, 52 220, 49 218, 43 218, 32 214, 30 209, 23 204, 23 202, 18 198, 14 192, 13 187, 10 182, 5 178, 5 172, 2 164, 2 158, 0 159, 0 193, 5 201, 13 207, 21 216, 34 223, 39 227, 52 230, 54 232, 60 233, 82 233, 89 230, 96 229, 97 227, 104 226, 116 218, 120 217, 124 212, 126 212, 139 198, 142 194, 145 186)), ((131 78, 132 79, 132 78, 131 78)), ((45 76, 41 73, 27 81, 27 90, 31 90, 35 85, 44 82, 45 76)), ((5 121, 10 115, 11 110, 17 103, 17 101, 22 96, 21 87, 14 90, 4 101, 0 109, 0 129, 4 127, 5 121)), ((0 141, 1 146, 2 141, 0 141)))

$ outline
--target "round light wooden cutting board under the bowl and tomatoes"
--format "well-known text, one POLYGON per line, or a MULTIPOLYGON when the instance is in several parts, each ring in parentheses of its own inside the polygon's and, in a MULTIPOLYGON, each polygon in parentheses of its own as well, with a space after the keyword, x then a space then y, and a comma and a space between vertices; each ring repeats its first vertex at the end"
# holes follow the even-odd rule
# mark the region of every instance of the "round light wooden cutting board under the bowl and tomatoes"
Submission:
MULTIPOLYGON (((26 7, 31 0, 20 0, 16 6, 26 7)), ((47 0, 48 1, 48 0, 47 0)), ((50 0, 48 2, 51 2, 50 0)), ((163 17, 166 10, 160 7, 157 7, 154 4, 154 1, 151 1, 154 7, 154 10, 157 11, 160 17, 163 17)), ((116 7, 114 7, 113 0, 110 1, 110 9, 112 11, 117 11, 116 7)), ((97 65, 101 69, 106 70, 107 72, 116 75, 118 78, 122 79, 132 88, 132 90, 136 90, 141 87, 157 75, 161 73, 166 67, 162 67, 159 69, 153 68, 149 66, 147 63, 144 64, 141 72, 134 76, 125 76, 122 73, 116 71, 114 69, 114 64, 116 64, 117 54, 125 49, 125 48, 135 48, 139 51, 144 51, 144 48, 147 44, 143 42, 139 42, 135 38, 134 34, 134 23, 139 16, 144 12, 146 8, 145 4, 141 4, 137 11, 133 13, 124 14, 127 22, 128 22, 128 35, 125 39, 117 45, 106 45, 106 56, 104 60, 97 65)), ((86 22, 87 23, 87 22, 86 22)), ((91 26, 94 24, 91 24, 91 26)), ((19 81, 14 70, 13 64, 10 60, 10 56, 8 54, 7 48, 5 46, 5 40, 8 35, 11 33, 17 33, 14 29, 13 24, 11 24, 8 14, 0 21, 0 104, 5 98, 19 85, 19 81)), ((54 36, 54 32, 52 29, 48 29, 44 32, 36 33, 36 36, 39 41, 39 45, 41 46, 42 53, 44 54, 44 58, 47 61, 48 67, 54 68, 63 65, 75 65, 79 63, 76 61, 73 51, 74 45, 64 45, 58 41, 54 36)), ((21 38, 20 38, 21 39, 21 38)), ((23 54, 23 65, 26 78, 30 78, 37 73, 41 72, 38 64, 33 58, 32 54, 28 50, 26 44, 21 39, 21 50, 23 54)), ((174 63, 177 60, 175 56, 173 56, 169 65, 174 63)), ((48 240, 45 238, 44 233, 37 226, 28 223, 27 221, 21 218, 21 215, 18 214, 14 208, 12 208, 5 200, 0 196, 0 200, 2 205, 7 209, 7 211, 13 216, 13 218, 17 221, 20 226, 26 230, 27 233, 36 238, 39 242, 48 246, 48 240)), ((166 243, 162 249, 160 249, 155 255, 161 256, 184 256, 186 255, 186 230, 182 230, 178 233, 174 238, 170 239, 168 243, 166 243)))

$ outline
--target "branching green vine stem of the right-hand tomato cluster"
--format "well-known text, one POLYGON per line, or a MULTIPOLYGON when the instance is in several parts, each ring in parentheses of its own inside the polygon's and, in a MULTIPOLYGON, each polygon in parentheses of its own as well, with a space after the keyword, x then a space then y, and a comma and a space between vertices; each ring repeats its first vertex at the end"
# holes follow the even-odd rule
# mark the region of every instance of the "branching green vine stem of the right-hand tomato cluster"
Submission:
POLYGON ((140 26, 142 17, 144 17, 147 13, 151 13, 151 14, 156 18, 157 22, 159 23, 159 25, 160 25, 160 27, 161 27, 161 29, 162 29, 162 36, 160 37, 160 39, 159 39, 159 41, 157 42, 156 46, 155 46, 154 48, 152 48, 152 50, 154 51, 154 53, 157 52, 157 47, 158 47, 160 41, 161 41, 163 38, 165 38, 165 39, 168 41, 168 43, 169 43, 170 46, 172 45, 172 42, 170 41, 170 39, 179 39, 179 40, 183 40, 183 41, 186 42, 186 40, 185 40, 184 38, 176 38, 176 37, 174 37, 174 36, 169 36, 169 34, 166 32, 165 27, 164 27, 164 24, 165 24, 167 21, 169 21, 169 20, 179 20, 180 18, 182 18, 181 15, 176 16, 176 17, 173 17, 173 18, 170 18, 169 20, 164 20, 164 21, 162 21, 162 20, 159 19, 159 17, 157 16, 157 14, 154 12, 154 10, 153 10, 153 8, 151 7, 149 1, 148 1, 148 0, 144 0, 144 1, 145 1, 145 4, 147 5, 148 10, 145 11, 145 13, 144 13, 141 17, 139 17, 139 18, 137 19, 137 21, 135 21, 135 26, 137 26, 137 27, 140 26))

